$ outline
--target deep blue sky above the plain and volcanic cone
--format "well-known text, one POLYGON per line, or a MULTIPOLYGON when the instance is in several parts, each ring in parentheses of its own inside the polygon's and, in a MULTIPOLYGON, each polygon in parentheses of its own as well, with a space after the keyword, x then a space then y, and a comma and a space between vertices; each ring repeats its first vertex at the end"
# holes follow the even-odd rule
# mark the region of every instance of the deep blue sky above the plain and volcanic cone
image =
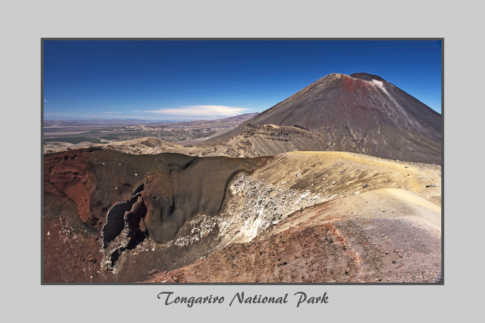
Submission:
POLYGON ((441 113, 440 41, 49 40, 44 118, 219 119, 261 112, 325 75, 359 72, 441 113))

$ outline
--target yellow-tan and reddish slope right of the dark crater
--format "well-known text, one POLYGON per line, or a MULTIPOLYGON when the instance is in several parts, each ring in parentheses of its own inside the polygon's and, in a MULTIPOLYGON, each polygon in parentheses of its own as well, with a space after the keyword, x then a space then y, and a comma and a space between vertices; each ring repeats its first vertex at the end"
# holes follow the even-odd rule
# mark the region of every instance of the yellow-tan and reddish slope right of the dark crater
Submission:
MULTIPOLYGON (((253 239, 225 246, 209 257, 179 269, 152 272, 146 282, 377 283, 440 280, 439 168, 368 156, 361 160, 359 155, 346 153, 290 154, 299 155, 300 158, 295 158, 295 161, 304 162, 308 169, 306 175, 314 174, 311 176, 315 179, 322 178, 325 173, 329 175, 329 170, 335 169, 332 164, 339 165, 341 169, 329 181, 337 185, 331 189, 332 193, 339 194, 318 203, 314 193, 304 193, 305 200, 315 199, 313 203, 316 204, 298 203, 301 209, 272 223, 253 239), (360 161, 356 165, 352 164, 356 160, 354 158, 360 161), (314 163, 322 160, 323 164, 327 164, 323 171, 318 169, 322 167, 320 163, 314 163), (349 167, 351 165, 353 167, 349 167), (357 169, 352 169, 354 167, 357 169), (356 179, 349 181, 349 177, 356 179), (362 183, 368 186, 363 188, 362 183), (430 186, 430 183, 436 186, 430 186)), ((277 185, 289 174, 276 173, 282 169, 273 169, 270 173, 273 162, 276 159, 265 165, 259 178, 277 185)), ((281 160, 280 164, 285 165, 281 160)), ((293 183, 292 187, 312 182, 302 176, 299 180, 301 182, 293 183)), ((321 187, 308 188, 311 192, 319 192, 321 187)), ((274 196, 275 200, 278 198, 281 199, 281 195, 274 196)), ((233 212, 240 214, 243 211, 236 207, 233 212)), ((247 229, 248 226, 242 228, 247 229)))

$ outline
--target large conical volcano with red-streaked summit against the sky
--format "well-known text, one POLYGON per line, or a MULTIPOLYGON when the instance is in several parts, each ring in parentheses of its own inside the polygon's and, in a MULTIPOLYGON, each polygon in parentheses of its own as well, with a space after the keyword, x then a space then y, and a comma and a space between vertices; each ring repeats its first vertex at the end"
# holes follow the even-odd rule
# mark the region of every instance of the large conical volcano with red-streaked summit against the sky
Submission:
POLYGON ((376 75, 330 74, 237 128, 194 147, 214 145, 223 146, 216 146, 217 154, 230 156, 343 151, 440 164, 441 115, 376 75), (264 125, 290 131, 264 136, 264 125), (292 133, 296 129, 308 133, 292 133), (264 146, 275 148, 267 151, 264 146))

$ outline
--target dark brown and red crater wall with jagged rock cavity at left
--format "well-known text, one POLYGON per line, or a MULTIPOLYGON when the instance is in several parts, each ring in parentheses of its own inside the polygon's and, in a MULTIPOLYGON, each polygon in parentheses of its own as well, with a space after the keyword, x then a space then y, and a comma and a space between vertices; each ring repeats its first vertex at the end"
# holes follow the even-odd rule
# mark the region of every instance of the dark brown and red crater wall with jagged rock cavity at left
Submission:
POLYGON ((173 240, 194 216, 217 215, 228 183, 261 160, 93 149, 47 154, 45 212, 70 205, 71 218, 77 213, 78 222, 102 233, 103 247, 122 231, 127 237, 143 234, 163 244, 173 240))

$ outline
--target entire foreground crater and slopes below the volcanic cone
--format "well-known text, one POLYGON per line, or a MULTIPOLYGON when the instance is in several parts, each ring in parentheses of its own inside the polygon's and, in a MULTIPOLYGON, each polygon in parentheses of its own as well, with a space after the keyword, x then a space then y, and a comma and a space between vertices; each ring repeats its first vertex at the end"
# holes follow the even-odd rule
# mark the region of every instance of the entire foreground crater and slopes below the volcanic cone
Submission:
MULTIPOLYGON (((350 274, 374 279, 375 275, 369 275, 382 261, 375 262, 369 255, 375 258, 378 249, 384 249, 372 244, 388 246, 387 238, 369 240, 377 232, 372 231, 375 227, 354 228, 370 218, 387 221, 375 226, 385 224, 395 228, 392 232, 406 234, 393 236, 389 245, 410 250, 415 257, 403 263, 401 268, 407 269, 405 274, 399 272, 401 276, 411 277, 419 269, 421 274, 413 277, 424 277, 422 270, 427 268, 431 273, 440 266, 434 257, 438 256, 440 239, 440 208, 436 204, 441 200, 440 186, 439 166, 352 153, 230 158, 134 155, 91 148, 47 154, 44 280, 142 281, 153 277, 148 275, 152 270, 186 270, 182 267, 197 259, 196 264, 213 270, 204 273, 201 267, 197 278, 201 280, 194 281, 250 281, 254 277, 266 277, 265 281, 347 281, 341 279, 350 279, 350 274), (426 187, 431 184, 436 186, 426 187), (291 243, 290 249, 274 249, 276 243, 271 239, 280 236, 291 243), (419 248, 411 236, 420 239, 419 248), (354 251, 345 241, 356 244, 354 251), (258 248, 264 248, 255 253, 257 242, 258 248), (316 245, 307 249, 305 244, 316 245), (228 253, 231 257, 234 253, 249 258, 235 261, 230 273, 224 262, 219 267, 204 262, 209 261, 204 260, 208 255, 219 257, 220 252, 229 252, 229 246, 235 248, 228 253), (372 251, 370 246, 377 249, 372 251), (247 250, 241 251, 244 248, 247 250), (426 250, 433 252, 436 268, 422 262, 426 250), (292 258, 285 258, 283 252, 292 258), (258 258, 258 264, 254 263, 257 254, 265 255, 258 258), (416 258, 418 255, 421 258, 416 258), (303 261, 306 257, 312 260, 303 261), (288 263, 298 267, 297 271, 288 273, 282 268, 281 275, 275 275, 272 266, 273 261, 281 262, 278 259, 292 261, 288 263), (366 261, 372 265, 364 265, 366 261), (307 267, 312 262, 316 267, 307 267), (311 270, 319 274, 309 275, 311 270), (214 278, 216 274, 218 278, 214 278), (238 274, 241 278, 236 278, 238 274)), ((388 269, 394 273, 392 266, 388 269)))

